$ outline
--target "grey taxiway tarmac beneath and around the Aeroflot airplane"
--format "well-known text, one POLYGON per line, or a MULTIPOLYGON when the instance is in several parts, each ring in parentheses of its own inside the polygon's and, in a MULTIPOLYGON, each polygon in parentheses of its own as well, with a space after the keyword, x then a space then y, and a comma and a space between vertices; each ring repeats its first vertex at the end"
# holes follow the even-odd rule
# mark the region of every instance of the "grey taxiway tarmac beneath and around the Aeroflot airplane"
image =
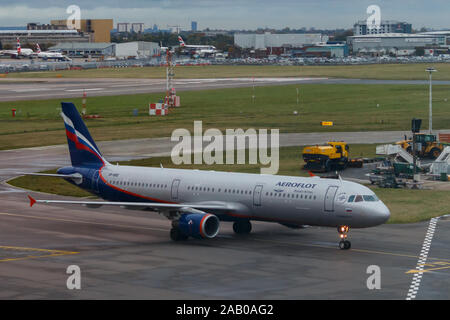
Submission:
MULTIPOLYGON (((348 139, 389 142, 401 132, 353 134, 348 139)), ((292 134, 280 142, 322 139, 328 137, 292 134)), ((114 161, 164 154, 171 145, 161 138, 102 142, 99 148, 114 161)), ((236 236, 231 224, 222 223, 215 239, 174 243, 169 221, 156 213, 30 208, 29 192, 4 183, 16 171, 67 163, 66 146, 0 151, 0 299, 406 299, 417 287, 413 277, 428 221, 352 229, 349 251, 337 248, 334 229, 291 230, 263 222, 253 223, 248 236, 236 236), (70 265, 80 267, 80 290, 66 286, 70 265), (372 265, 381 270, 379 290, 367 287, 372 265)), ((450 298, 449 221, 439 219, 427 240, 430 249, 414 299, 450 298)))

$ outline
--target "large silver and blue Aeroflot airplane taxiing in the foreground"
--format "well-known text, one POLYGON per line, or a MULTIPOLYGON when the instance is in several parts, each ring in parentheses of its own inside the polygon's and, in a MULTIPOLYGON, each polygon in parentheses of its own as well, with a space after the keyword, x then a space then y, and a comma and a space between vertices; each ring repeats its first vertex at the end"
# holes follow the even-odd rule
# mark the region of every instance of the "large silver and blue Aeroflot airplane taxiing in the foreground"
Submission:
MULTIPOLYGON (((56 174, 103 201, 36 200, 41 204, 120 206, 151 210, 167 217, 174 241, 217 236, 220 221, 233 222, 236 234, 251 232, 251 221, 290 228, 337 228, 339 248, 350 249, 350 228, 374 227, 390 216, 369 188, 342 179, 294 177, 206 170, 151 168, 110 164, 100 153, 73 103, 62 102, 71 166, 56 174)), ((313 175, 313 174, 311 174, 313 175)))

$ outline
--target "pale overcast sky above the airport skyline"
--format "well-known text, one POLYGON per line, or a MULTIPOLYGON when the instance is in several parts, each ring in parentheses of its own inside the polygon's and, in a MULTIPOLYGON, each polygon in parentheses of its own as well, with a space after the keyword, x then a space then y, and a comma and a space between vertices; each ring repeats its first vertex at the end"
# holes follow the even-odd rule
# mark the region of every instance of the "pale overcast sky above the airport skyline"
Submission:
POLYGON ((66 19, 69 5, 81 8, 81 18, 112 18, 117 22, 143 22, 160 28, 190 22, 198 28, 351 28, 367 18, 375 4, 383 20, 400 20, 421 27, 450 29, 450 0, 0 0, 0 26, 24 26, 66 19))

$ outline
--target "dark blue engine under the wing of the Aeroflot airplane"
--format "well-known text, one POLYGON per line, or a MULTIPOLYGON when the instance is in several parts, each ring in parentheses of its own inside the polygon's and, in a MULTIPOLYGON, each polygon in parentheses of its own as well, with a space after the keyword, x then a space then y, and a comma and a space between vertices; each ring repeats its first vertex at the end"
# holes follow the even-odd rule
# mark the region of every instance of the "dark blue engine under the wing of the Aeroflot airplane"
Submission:
POLYGON ((219 233, 219 218, 209 213, 187 213, 178 220, 182 233, 193 238, 214 238, 219 233))

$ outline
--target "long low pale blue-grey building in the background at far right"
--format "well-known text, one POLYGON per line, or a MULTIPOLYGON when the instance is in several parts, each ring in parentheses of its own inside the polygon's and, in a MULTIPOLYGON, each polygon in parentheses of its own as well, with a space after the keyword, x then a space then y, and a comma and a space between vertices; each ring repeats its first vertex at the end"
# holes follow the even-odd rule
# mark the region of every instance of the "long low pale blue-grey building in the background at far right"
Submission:
POLYGON ((416 48, 435 48, 445 46, 447 38, 441 34, 401 34, 385 33, 351 36, 347 44, 353 54, 388 54, 402 52, 413 54, 416 48))

